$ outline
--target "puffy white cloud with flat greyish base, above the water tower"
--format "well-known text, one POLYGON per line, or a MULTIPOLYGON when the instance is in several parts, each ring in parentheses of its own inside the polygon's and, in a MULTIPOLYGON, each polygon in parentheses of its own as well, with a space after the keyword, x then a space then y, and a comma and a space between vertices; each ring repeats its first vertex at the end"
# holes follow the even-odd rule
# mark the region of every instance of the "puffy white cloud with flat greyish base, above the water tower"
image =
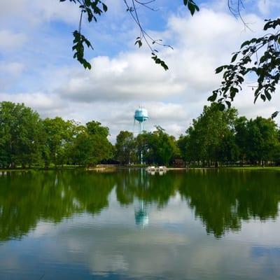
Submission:
POLYGON ((183 92, 171 72, 155 66, 149 55, 126 53, 109 59, 92 60, 92 71, 80 71, 59 89, 62 96, 76 102, 145 101, 183 92))

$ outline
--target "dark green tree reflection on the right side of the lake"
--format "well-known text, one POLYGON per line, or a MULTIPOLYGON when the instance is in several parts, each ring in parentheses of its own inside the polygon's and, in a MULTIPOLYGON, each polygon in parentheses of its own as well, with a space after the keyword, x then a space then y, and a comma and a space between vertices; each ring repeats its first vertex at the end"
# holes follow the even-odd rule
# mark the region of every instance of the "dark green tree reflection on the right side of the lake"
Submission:
POLYGON ((208 233, 219 238, 237 231, 242 220, 278 216, 280 174, 274 172, 190 171, 179 192, 208 233))

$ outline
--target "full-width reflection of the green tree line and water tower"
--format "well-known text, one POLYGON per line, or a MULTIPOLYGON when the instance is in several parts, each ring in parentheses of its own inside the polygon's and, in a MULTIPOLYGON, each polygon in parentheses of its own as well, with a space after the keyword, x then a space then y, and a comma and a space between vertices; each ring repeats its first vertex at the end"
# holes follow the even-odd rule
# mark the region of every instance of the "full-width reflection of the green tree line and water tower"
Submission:
POLYGON ((158 209, 180 195, 216 238, 237 232, 242 221, 278 216, 277 172, 188 171, 151 175, 142 170, 6 172, 0 176, 0 240, 19 239, 39 221, 59 223, 73 214, 98 215, 116 190, 118 204, 136 203, 137 225, 148 224, 146 204, 158 209))

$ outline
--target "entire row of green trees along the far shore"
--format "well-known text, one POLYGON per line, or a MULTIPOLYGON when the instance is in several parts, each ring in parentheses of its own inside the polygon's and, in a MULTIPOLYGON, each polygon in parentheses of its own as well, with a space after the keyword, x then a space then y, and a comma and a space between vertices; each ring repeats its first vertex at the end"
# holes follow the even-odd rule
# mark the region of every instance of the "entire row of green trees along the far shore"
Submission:
POLYGON ((201 167, 280 163, 280 130, 274 120, 248 120, 215 103, 204 106, 179 139, 160 126, 137 136, 121 131, 115 145, 108 137, 109 127, 95 120, 81 125, 59 117, 42 119, 24 104, 0 102, 1 168, 136 165, 141 151, 147 165, 173 165, 175 160, 201 167))

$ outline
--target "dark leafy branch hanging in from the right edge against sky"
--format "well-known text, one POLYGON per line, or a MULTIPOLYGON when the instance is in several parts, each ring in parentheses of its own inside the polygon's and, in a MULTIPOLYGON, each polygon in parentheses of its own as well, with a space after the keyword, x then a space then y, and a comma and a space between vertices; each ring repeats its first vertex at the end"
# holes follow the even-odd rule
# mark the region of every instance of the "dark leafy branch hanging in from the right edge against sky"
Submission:
MULTIPOLYGON (((216 69, 216 73, 223 71, 223 81, 209 97, 209 101, 215 102, 218 99, 218 103, 223 105, 221 109, 224 109, 225 105, 230 107, 236 94, 242 90, 246 76, 257 78, 256 85, 252 86, 254 102, 258 97, 264 102, 272 99, 280 78, 279 27, 280 18, 268 20, 264 30, 269 33, 242 43, 240 50, 233 54, 231 63, 216 69), (261 54, 258 55, 258 52, 261 54)), ((277 113, 278 111, 272 118, 275 118, 277 113)))

